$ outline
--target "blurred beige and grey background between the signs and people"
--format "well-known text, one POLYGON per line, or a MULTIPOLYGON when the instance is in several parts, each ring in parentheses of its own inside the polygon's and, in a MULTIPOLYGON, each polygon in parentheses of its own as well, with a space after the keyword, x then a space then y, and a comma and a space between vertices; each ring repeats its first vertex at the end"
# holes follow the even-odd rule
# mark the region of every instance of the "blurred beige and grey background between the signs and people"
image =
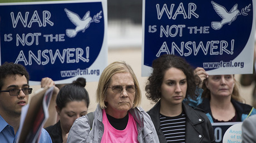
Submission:
MULTIPOLYGON (((0 0, 0 2, 36 2, 36 0, 0 0)), ((107 0, 108 15, 108 63, 117 60, 124 60, 134 69, 139 80, 142 91, 141 106, 144 110, 149 110, 154 104, 145 96, 145 84, 147 77, 141 76, 141 47, 142 47, 142 0, 107 0)), ((240 82, 241 75, 235 75, 240 82)), ((86 84, 86 90, 90 95, 90 105, 88 112, 96 109, 96 89, 98 82, 86 84)), ((245 99, 245 103, 253 105, 252 92, 255 83, 248 86, 240 86, 240 94, 245 99)), ((33 92, 40 89, 40 85, 32 86, 33 92)), ((255 108, 255 106, 254 106, 255 108)))

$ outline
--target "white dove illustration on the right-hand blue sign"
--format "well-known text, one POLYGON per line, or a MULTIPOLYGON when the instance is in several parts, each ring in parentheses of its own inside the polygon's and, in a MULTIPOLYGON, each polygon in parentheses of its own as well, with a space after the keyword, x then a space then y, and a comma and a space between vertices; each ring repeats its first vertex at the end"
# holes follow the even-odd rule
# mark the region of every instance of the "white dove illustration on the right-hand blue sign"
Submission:
POLYGON ((213 8, 215 9, 216 13, 222 18, 220 22, 211 22, 211 27, 214 30, 219 30, 226 23, 230 25, 233 21, 235 21, 235 19, 237 19, 237 16, 241 14, 237 9, 238 4, 235 4, 229 12, 225 7, 220 6, 218 3, 211 1, 211 4, 213 4, 213 8))

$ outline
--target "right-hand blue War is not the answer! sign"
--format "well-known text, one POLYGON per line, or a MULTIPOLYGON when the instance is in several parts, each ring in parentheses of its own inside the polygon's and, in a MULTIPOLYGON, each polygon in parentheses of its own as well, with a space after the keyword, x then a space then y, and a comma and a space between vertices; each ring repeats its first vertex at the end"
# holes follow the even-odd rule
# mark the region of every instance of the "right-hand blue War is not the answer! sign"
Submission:
POLYGON ((143 2, 142 76, 161 54, 184 57, 209 74, 253 72, 255 2, 143 2))

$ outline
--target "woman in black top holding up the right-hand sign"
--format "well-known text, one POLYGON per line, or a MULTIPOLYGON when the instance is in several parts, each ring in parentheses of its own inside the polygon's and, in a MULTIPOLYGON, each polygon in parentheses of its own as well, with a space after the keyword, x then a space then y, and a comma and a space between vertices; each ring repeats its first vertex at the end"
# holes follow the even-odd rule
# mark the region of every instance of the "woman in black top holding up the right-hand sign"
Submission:
POLYGON ((204 109, 211 122, 244 121, 256 110, 243 103, 234 74, 208 75, 203 68, 196 68, 195 73, 207 75, 203 82, 203 101, 197 106, 204 109))

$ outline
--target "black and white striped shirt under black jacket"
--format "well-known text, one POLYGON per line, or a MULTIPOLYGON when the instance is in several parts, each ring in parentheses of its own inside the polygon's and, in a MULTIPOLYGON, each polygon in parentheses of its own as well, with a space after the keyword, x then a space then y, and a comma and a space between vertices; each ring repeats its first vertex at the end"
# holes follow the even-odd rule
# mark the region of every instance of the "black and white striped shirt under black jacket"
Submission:
POLYGON ((167 142, 185 142, 186 115, 169 117, 160 114, 160 127, 167 142))

